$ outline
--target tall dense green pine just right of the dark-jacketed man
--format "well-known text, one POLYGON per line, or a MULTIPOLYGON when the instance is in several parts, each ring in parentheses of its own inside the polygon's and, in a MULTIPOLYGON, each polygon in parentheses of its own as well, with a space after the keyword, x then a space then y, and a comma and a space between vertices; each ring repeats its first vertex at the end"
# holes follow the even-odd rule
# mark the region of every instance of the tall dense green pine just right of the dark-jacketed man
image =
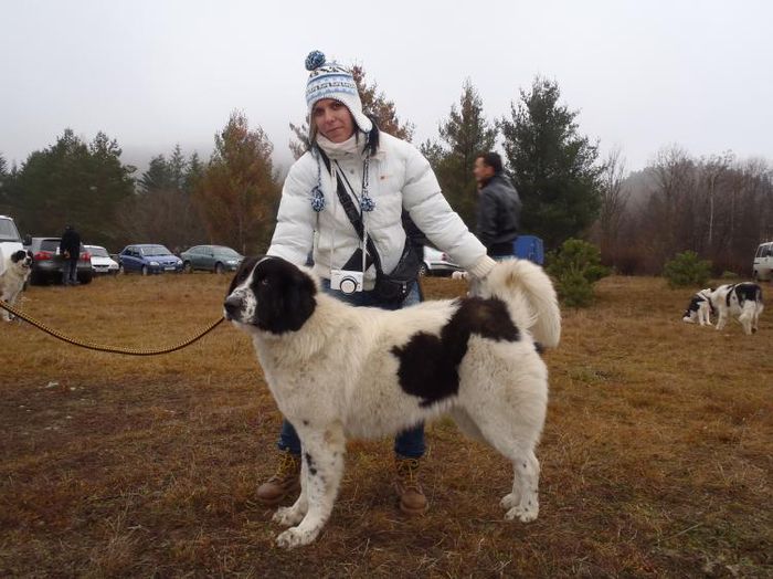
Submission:
POLYGON ((549 249, 581 236, 600 208, 597 144, 578 134, 578 112, 559 104, 555 82, 534 78, 520 91, 511 120, 502 119, 505 150, 523 202, 521 230, 549 249))

